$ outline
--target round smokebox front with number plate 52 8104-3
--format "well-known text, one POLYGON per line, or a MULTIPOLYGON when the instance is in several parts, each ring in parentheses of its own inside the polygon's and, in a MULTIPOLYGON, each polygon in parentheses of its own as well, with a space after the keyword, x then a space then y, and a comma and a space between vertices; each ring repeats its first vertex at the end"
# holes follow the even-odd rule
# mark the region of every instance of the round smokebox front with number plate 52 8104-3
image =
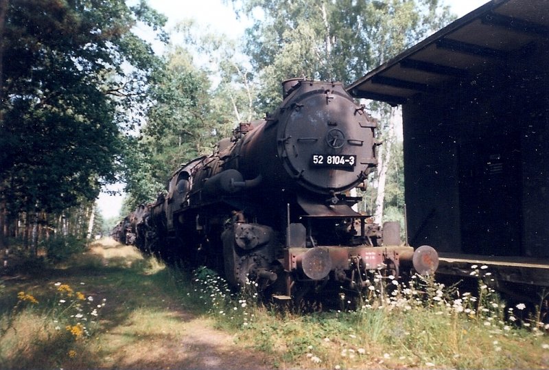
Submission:
POLYGON ((324 194, 342 192, 377 164, 377 122, 341 84, 301 82, 283 105, 276 117, 278 154, 299 185, 324 194))

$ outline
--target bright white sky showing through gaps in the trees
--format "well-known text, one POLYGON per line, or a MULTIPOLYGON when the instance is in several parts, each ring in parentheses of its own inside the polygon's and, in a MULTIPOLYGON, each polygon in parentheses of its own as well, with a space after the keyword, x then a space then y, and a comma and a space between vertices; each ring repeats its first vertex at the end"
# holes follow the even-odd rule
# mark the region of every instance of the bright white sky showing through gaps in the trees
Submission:
MULTIPOLYGON (((475 10, 480 5, 487 3, 487 0, 443 0, 449 5, 452 12, 458 17, 475 10)), ((148 0, 152 8, 168 17, 167 29, 170 30, 178 21, 194 18, 201 25, 209 25, 212 31, 218 31, 240 38, 244 35, 244 29, 249 23, 238 20, 235 17, 231 5, 224 5, 222 0, 148 0)), ((110 187, 110 189, 121 190, 122 185, 110 187)), ((104 218, 118 216, 123 196, 108 196, 102 192, 97 204, 99 205, 104 218)))

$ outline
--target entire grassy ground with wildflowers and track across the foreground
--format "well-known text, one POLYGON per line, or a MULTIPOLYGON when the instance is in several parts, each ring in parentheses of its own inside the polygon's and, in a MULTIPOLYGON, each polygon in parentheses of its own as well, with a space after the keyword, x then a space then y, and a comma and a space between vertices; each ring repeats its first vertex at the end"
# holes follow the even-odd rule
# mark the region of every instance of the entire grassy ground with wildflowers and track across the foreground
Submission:
POLYGON ((103 242, 4 279, 0 368, 548 368, 549 326, 473 272, 480 294, 373 277, 358 305, 299 312, 258 303, 253 284, 235 294, 206 268, 190 275, 103 242))

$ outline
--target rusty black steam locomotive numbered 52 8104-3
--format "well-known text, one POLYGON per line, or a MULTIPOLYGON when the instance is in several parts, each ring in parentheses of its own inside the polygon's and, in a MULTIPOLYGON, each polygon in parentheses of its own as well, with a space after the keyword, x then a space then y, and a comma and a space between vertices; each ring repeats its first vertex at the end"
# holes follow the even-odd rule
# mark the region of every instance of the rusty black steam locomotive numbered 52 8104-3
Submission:
MULTIPOLYGON (((377 122, 340 82, 283 82, 283 102, 240 124, 215 153, 182 165, 167 194, 119 227, 141 250, 212 266, 233 286, 257 282, 290 299, 328 283, 360 290, 374 271, 434 272, 399 224, 353 210, 377 158, 377 122)), ((318 289, 317 289, 318 290, 318 289)))

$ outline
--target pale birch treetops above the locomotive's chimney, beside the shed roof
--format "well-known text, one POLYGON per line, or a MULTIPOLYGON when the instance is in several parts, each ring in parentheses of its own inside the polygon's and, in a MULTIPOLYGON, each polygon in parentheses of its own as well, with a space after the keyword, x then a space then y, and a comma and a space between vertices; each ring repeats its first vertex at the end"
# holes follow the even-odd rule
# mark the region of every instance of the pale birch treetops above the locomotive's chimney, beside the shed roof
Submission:
POLYGON ((348 84, 453 19, 439 0, 233 0, 257 14, 246 54, 272 110, 280 82, 305 76, 348 84))

